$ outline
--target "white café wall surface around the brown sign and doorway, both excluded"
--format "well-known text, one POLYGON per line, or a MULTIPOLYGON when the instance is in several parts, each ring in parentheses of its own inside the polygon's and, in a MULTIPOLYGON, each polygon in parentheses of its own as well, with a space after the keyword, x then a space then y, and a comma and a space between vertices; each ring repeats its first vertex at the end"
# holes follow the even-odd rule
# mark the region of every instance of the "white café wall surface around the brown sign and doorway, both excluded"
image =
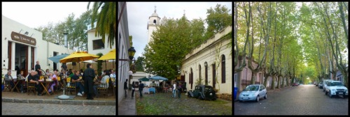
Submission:
MULTIPOLYGON (((35 29, 31 29, 28 26, 25 26, 23 24, 20 24, 18 22, 15 22, 14 20, 10 20, 7 17, 4 17, 2 15, 2 22, 3 26, 2 28, 2 32, 1 32, 1 43, 2 43, 2 53, 1 56, 3 60, 5 60, 5 62, 2 62, 2 66, 5 65, 5 67, 2 67, 4 71, 4 69, 7 70, 7 66, 8 66, 8 42, 16 42, 16 43, 20 43, 22 45, 27 45, 30 47, 34 47, 34 65, 36 65, 36 61, 39 61, 39 64, 41 65, 41 69, 45 70, 47 68, 49 68, 48 63, 50 63, 50 68, 52 70, 53 68, 53 63, 52 61, 48 60, 48 57, 51 57, 53 55, 53 52, 59 52, 59 54, 61 53, 66 53, 66 54, 71 54, 73 52, 73 50, 71 49, 67 49, 63 46, 59 46, 59 45, 55 45, 51 42, 47 42, 45 40, 43 40, 43 33, 41 33, 40 31, 36 31, 35 29), (21 31, 22 29, 22 31, 21 31), (36 40, 36 45, 28 45, 22 42, 17 42, 15 40, 11 39, 11 32, 14 31, 16 33, 21 33, 24 34, 26 31, 28 31, 28 36, 31 38, 34 38, 36 40), (6 40, 5 40, 6 38, 6 40)), ((17 47, 15 47, 16 49, 18 49, 17 47)), ((15 50, 13 50, 15 51, 15 50)), ((30 58, 31 52, 28 49, 28 59, 30 58)), ((15 60, 15 57, 18 57, 19 54, 13 54, 12 58, 13 61, 15 60)), ((29 67, 29 70, 31 69, 30 65, 30 60, 26 60, 28 61, 28 65, 26 65, 26 67, 29 67)), ((14 63, 14 62, 13 62, 14 63)), ((13 64, 11 66, 11 68, 13 68, 12 70, 15 69, 15 64, 13 64)), ((60 65, 57 65, 57 68, 60 68, 60 65)), ((6 71, 5 70, 5 71, 6 71)), ((15 75, 15 74, 13 74, 15 75)))

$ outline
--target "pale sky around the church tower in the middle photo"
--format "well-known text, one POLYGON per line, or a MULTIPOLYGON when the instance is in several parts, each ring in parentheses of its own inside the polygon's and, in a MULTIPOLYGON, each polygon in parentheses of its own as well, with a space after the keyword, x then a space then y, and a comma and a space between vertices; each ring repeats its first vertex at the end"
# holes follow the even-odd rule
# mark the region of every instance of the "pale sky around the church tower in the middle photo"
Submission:
POLYGON ((163 17, 180 19, 183 16, 183 10, 188 20, 200 17, 204 20, 207 18, 207 9, 214 8, 217 3, 221 6, 225 5, 232 14, 232 2, 127 2, 129 35, 132 36, 132 46, 136 50, 134 58, 137 59, 144 53, 148 41, 148 17, 154 13, 155 6, 160 20, 163 17))

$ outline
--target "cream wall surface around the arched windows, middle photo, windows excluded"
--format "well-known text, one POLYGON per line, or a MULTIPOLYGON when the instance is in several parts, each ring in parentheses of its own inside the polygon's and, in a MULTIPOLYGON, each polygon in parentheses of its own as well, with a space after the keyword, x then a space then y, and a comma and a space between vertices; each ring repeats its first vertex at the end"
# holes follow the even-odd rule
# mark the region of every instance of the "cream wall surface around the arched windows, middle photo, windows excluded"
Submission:
MULTIPOLYGON (((195 88, 196 80, 199 79, 199 65, 201 65, 201 76, 202 76, 202 83, 205 84, 205 67, 204 63, 208 63, 208 85, 213 85, 213 66, 212 64, 217 61, 220 62, 220 65, 218 69, 216 70, 217 73, 217 81, 216 82, 216 88, 219 89, 218 93, 232 93, 232 54, 231 48, 227 45, 229 44, 230 40, 219 40, 222 36, 225 36, 225 34, 232 31, 231 26, 225 29, 223 33, 217 33, 215 38, 211 38, 207 40, 206 43, 202 44, 200 47, 197 47, 192 52, 186 55, 186 59, 182 63, 181 67, 181 75, 185 75, 185 81, 188 83, 187 88, 188 90, 193 90, 195 88), (211 44, 215 43, 213 46, 211 44), (219 60, 216 60, 216 47, 218 45, 221 45, 220 53, 219 53, 219 60), (225 83, 222 84, 221 82, 221 56, 225 55, 225 83), (193 69, 193 87, 190 88, 190 69, 193 69)), ((218 63, 216 63, 218 65, 218 63)))

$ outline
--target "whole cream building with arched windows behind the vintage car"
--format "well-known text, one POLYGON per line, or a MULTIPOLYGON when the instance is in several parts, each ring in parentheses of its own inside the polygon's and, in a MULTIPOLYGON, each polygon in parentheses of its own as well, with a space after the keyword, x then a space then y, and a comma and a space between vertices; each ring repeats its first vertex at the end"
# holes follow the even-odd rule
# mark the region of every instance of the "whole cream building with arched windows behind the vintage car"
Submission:
POLYGON ((222 38, 230 32, 232 26, 219 31, 186 55, 181 77, 185 77, 188 91, 195 88, 201 77, 202 84, 219 89, 218 93, 232 93, 232 47, 228 46, 232 39, 222 38))

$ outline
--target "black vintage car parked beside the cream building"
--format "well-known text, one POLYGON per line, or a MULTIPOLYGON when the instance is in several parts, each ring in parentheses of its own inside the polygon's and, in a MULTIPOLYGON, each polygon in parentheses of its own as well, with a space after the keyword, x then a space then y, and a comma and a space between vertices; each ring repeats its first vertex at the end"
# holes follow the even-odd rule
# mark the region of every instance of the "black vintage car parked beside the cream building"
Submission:
POLYGON ((200 98, 201 100, 216 100, 216 93, 212 86, 197 85, 194 91, 188 91, 188 98, 200 98))

